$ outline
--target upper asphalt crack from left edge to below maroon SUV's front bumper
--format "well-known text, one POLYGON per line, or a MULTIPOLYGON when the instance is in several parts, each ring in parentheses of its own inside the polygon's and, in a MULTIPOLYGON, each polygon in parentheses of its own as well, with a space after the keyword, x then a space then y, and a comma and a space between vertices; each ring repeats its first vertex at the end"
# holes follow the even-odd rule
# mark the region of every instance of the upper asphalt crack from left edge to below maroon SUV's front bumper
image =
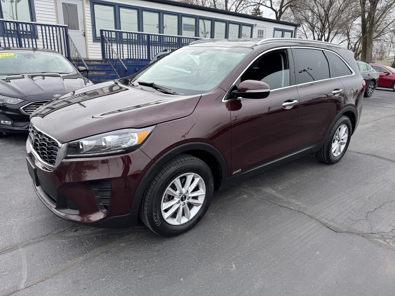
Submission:
POLYGON ((117 233, 122 233, 122 232, 145 230, 145 227, 133 227, 133 228, 127 228, 127 229, 122 229, 122 230, 116 230, 116 231, 114 231, 113 229, 103 229, 103 230, 99 230, 98 232, 93 232, 93 233, 83 233, 83 234, 75 234, 75 235, 64 235, 64 234, 59 235, 61 232, 65 232, 65 231, 67 231, 71 228, 74 228, 74 227, 76 227, 76 226, 74 225, 72 227, 69 227, 67 229, 61 230, 56 233, 46 234, 46 235, 40 236, 38 238, 32 238, 31 240, 26 240, 24 242, 19 242, 16 244, 8 245, 7 247, 0 249, 0 255, 21 249, 23 247, 28 247, 29 245, 38 244, 39 242, 43 242, 46 240, 53 240, 53 241, 73 240, 76 238, 83 238, 83 237, 89 237, 89 236, 101 236, 101 235, 106 235, 106 234, 117 234, 117 233))

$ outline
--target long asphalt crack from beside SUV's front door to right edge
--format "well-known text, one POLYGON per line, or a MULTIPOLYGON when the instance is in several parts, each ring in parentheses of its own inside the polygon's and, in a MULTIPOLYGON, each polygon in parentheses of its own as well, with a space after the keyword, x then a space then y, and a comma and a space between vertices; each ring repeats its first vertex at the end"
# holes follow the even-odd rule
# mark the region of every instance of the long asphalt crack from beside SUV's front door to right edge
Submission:
MULTIPOLYGON (((241 189, 239 187, 235 187, 235 186, 232 186, 232 187, 235 189, 235 191, 237 191, 239 193, 245 193, 245 194, 248 194, 248 195, 250 195, 252 197, 256 197, 258 199, 270 202, 271 204, 275 204, 276 206, 280 206, 282 208, 293 210, 293 211, 298 212, 300 214, 306 215, 307 217, 310 217, 311 219, 316 220, 318 223, 324 225, 327 229, 332 230, 333 232, 355 234, 355 235, 361 236, 362 238, 365 238, 365 239, 371 241, 372 243, 374 243, 374 244, 376 244, 376 245, 378 245, 380 247, 384 247, 386 249, 390 249, 392 251, 395 251, 395 237, 391 236, 391 238, 388 238, 388 237, 384 237, 384 235, 380 234, 380 233, 386 233, 386 232, 370 232, 370 233, 366 233, 366 232, 360 232, 357 229, 346 227, 345 225, 341 225, 341 226, 340 225, 339 226, 331 225, 331 224, 327 223, 326 221, 324 221, 323 219, 320 219, 318 217, 314 217, 314 215, 312 215, 312 214, 308 214, 307 212, 304 212, 302 210, 299 210, 299 209, 295 208, 297 206, 301 206, 303 208, 308 208, 308 207, 303 205, 303 204, 301 204, 301 203, 299 203, 299 202, 294 202, 291 199, 283 197, 282 195, 276 193, 273 190, 268 190, 268 189, 264 189, 264 188, 258 187, 259 189, 262 189, 263 191, 265 191, 266 193, 268 193, 271 196, 274 196, 276 198, 280 198, 280 199, 282 199, 282 200, 284 200, 286 202, 296 203, 297 205, 296 206, 289 206, 289 205, 286 205, 286 204, 285 205, 284 204, 280 204, 280 203, 276 202, 275 200, 271 200, 271 199, 267 199, 265 197, 261 197, 261 196, 255 195, 255 194, 250 193, 250 192, 248 192, 248 191, 246 191, 244 189, 241 189), (377 236, 379 236, 379 237, 377 237, 377 236)), ((326 218, 326 220, 330 220, 330 219, 326 218)), ((388 235, 388 236, 390 236, 390 235, 388 235)))

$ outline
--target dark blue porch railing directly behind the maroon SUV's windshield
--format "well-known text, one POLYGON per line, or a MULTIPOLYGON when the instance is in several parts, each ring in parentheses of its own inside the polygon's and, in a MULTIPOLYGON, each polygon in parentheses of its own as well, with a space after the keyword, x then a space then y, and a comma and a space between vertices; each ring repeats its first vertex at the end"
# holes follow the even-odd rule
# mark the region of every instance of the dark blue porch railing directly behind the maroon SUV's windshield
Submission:
MULTIPOLYGON (((173 36, 164 34, 150 34, 143 32, 100 30, 100 36, 104 36, 111 47, 117 52, 123 61, 147 61, 155 54, 169 48, 179 48, 189 43, 202 39, 199 37, 173 36)), ((103 60, 108 56, 108 46, 105 39, 101 38, 103 60)))

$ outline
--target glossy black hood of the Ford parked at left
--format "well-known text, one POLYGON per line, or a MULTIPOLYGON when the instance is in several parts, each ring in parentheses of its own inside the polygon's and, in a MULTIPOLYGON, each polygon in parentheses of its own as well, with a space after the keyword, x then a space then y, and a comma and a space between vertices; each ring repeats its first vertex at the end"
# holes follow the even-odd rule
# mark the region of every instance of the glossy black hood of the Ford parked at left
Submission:
MULTIPOLYGON (((19 99, 26 96, 66 94, 86 86, 81 74, 31 73, 0 76, 0 94, 19 99)), ((53 95, 52 95, 53 98, 53 95)))

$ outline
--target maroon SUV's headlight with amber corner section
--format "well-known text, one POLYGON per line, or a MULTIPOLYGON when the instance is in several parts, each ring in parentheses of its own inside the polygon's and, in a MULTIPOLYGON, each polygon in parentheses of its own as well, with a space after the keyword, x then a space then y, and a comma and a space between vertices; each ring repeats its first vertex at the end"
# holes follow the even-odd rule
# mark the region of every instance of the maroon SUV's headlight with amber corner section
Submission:
POLYGON ((66 157, 88 157, 122 153, 140 146, 154 126, 143 129, 120 129, 69 142, 66 157))

